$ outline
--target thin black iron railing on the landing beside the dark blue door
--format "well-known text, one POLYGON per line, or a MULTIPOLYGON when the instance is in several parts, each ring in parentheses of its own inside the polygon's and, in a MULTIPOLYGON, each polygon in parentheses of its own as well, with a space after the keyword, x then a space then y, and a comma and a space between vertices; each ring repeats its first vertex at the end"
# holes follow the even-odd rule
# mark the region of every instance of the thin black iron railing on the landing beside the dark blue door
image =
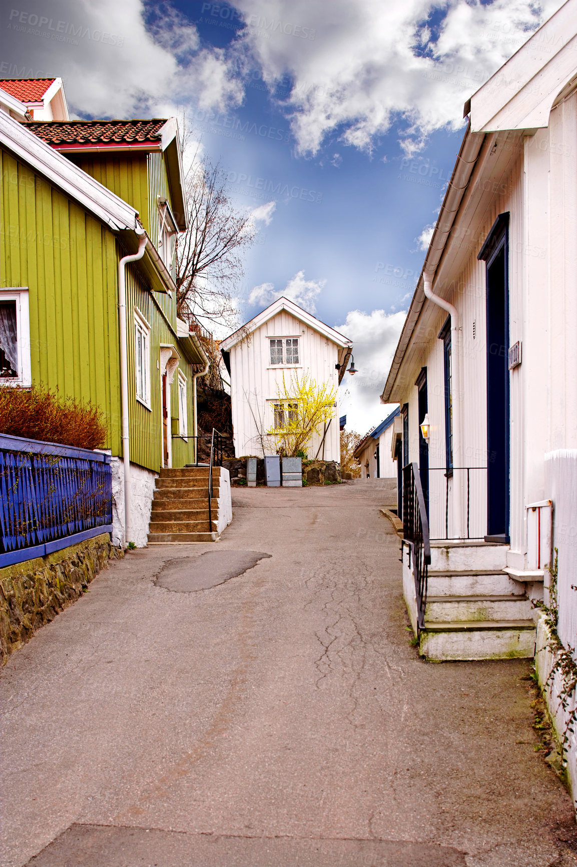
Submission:
MULTIPOLYGON (((487 467, 486 466, 429 466, 429 502, 434 520, 431 520, 431 537, 435 541, 456 539, 482 539, 487 532, 487 467), (467 505, 467 532, 461 536, 449 536, 449 484, 461 487, 467 505), (471 502, 472 499, 472 502, 471 502), (473 513, 471 513, 473 512, 473 513), (439 525, 443 514, 444 535, 439 525), (436 535, 440 533, 440 535, 436 535)), ((465 505, 463 503, 463 505, 465 505)))

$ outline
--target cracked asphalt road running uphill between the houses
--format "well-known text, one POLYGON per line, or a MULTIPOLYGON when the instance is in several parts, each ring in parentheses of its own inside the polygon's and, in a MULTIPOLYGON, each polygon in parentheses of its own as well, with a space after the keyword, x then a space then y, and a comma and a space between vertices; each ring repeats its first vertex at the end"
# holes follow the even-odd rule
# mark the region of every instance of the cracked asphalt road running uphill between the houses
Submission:
POLYGON ((577 864, 528 662, 410 646, 390 491, 236 490, 13 655, 2 867, 577 864))

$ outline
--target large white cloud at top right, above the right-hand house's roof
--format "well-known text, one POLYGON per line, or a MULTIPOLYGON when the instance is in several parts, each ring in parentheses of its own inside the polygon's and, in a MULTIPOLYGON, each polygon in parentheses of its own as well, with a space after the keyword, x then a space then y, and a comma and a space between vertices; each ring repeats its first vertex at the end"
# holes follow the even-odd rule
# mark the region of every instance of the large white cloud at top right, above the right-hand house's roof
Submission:
POLYGON ((301 153, 329 135, 370 151, 403 118, 406 153, 439 127, 462 126, 463 102, 561 0, 235 0, 244 42, 287 101, 301 153), (429 15, 446 8, 434 41, 429 15))

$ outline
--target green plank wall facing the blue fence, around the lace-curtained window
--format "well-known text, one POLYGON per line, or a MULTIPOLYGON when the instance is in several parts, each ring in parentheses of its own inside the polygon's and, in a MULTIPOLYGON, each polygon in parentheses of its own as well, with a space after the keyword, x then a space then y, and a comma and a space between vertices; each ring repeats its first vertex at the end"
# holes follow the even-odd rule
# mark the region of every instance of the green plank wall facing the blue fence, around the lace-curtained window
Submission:
POLYGON ((0 285, 29 289, 32 381, 100 407, 118 454, 115 236, 10 152, 0 160, 0 285))

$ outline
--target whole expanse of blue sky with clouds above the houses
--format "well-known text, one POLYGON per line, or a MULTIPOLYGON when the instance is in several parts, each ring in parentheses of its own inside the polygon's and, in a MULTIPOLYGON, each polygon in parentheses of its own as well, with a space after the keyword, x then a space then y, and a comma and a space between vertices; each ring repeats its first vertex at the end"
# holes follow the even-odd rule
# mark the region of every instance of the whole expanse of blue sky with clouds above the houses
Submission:
POLYGON ((185 115, 259 227, 239 318, 288 294, 351 337, 359 372, 342 410, 364 433, 388 411, 378 397, 463 103, 559 6, 31 0, 0 12, 0 75, 62 75, 75 116, 185 115))

